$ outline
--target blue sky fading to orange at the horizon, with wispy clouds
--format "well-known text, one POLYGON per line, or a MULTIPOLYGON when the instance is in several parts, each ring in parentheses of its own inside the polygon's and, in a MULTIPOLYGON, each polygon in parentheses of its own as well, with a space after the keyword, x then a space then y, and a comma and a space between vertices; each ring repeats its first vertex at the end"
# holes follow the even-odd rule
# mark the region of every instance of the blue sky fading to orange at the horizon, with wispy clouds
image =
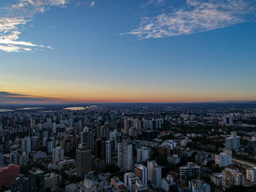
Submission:
POLYGON ((256 0, 1 0, 0 104, 256 100, 256 0))

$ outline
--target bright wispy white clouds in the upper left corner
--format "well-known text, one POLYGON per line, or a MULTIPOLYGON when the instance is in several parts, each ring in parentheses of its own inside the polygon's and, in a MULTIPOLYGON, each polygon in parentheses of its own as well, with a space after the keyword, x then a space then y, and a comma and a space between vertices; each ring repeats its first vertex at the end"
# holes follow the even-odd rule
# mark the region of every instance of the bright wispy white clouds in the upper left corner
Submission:
POLYGON ((11 7, 4 7, 7 17, 0 18, 0 50, 10 52, 31 51, 33 47, 51 49, 50 46, 32 42, 18 41, 20 28, 26 25, 38 12, 45 12, 50 7, 65 7, 69 0, 19 0, 11 7))

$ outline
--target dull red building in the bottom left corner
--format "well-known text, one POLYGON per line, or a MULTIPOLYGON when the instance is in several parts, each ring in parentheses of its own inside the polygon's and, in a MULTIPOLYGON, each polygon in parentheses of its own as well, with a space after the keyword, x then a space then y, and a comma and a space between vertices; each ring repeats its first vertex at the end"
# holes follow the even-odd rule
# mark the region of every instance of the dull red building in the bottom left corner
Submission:
POLYGON ((0 166, 0 188, 2 186, 11 185, 12 180, 20 174, 20 166, 10 164, 8 166, 0 166))

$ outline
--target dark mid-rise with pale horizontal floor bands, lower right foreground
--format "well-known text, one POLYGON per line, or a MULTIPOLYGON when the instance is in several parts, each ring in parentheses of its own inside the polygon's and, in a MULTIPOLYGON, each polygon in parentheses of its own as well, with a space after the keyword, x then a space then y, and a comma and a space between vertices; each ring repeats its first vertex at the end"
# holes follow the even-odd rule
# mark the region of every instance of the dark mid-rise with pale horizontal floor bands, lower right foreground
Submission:
POLYGON ((179 169, 181 185, 188 185, 192 179, 200 180, 201 168, 197 164, 189 162, 187 166, 181 166, 179 169))

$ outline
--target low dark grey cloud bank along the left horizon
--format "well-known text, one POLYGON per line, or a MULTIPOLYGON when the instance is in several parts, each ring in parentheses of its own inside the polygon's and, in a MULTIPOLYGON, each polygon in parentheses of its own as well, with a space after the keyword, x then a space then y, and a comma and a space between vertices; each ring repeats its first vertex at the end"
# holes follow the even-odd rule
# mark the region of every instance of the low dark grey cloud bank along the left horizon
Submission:
POLYGON ((0 104, 48 104, 53 102, 64 102, 64 99, 0 91, 0 104))

